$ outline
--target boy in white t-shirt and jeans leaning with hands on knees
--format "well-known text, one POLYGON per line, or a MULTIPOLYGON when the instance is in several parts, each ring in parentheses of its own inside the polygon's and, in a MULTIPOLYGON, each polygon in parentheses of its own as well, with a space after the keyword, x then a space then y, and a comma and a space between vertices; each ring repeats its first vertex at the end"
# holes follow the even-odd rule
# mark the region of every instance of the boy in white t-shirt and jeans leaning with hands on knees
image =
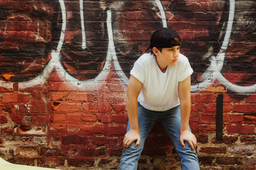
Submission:
POLYGON ((193 69, 180 54, 179 34, 173 29, 160 29, 152 34, 149 48, 152 52, 141 55, 131 70, 127 87, 129 122, 120 170, 137 169, 145 139, 155 122, 172 140, 182 169, 199 169, 196 138, 189 128, 193 69))

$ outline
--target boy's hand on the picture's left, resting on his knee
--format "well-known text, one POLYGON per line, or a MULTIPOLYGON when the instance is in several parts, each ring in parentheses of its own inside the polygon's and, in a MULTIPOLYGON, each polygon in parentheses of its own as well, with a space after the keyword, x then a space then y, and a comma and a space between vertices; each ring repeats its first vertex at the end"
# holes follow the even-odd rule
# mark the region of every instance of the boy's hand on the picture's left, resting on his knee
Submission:
POLYGON ((138 131, 134 131, 130 129, 130 131, 128 131, 124 136, 124 141, 123 141, 124 149, 129 148, 129 146, 133 141, 137 141, 135 144, 135 148, 137 148, 137 146, 140 144, 140 134, 138 131))

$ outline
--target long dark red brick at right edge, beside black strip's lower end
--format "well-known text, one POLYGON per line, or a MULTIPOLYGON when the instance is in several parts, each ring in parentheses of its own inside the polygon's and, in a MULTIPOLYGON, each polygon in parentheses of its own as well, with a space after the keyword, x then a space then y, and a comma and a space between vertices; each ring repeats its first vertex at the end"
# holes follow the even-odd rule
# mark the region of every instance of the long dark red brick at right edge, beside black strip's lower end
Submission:
POLYGON ((229 134, 254 134, 255 127, 248 125, 227 125, 229 134))

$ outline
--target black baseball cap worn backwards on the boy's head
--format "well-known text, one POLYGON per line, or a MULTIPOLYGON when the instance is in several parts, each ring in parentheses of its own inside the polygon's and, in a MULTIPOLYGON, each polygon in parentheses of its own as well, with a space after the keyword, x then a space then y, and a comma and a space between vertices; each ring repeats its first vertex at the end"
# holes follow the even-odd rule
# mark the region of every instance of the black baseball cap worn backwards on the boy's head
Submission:
MULTIPOLYGON (((170 28, 159 29, 154 32, 150 38, 150 46, 147 50, 153 47, 156 48, 170 48, 172 46, 180 46, 180 36, 179 34, 170 28), (178 38, 179 42, 173 41, 174 38, 178 38)), ((145 50, 145 52, 147 52, 145 50)))

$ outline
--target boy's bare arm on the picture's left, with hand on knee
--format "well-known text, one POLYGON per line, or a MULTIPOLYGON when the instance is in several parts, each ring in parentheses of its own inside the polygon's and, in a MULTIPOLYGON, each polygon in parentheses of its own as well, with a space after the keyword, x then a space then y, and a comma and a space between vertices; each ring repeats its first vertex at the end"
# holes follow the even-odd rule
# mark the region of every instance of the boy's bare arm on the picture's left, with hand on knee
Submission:
POLYGON ((123 145, 127 149, 133 141, 137 141, 135 147, 140 144, 140 134, 138 125, 138 96, 140 94, 143 83, 131 75, 127 87, 127 113, 130 123, 130 130, 125 134, 123 145))

